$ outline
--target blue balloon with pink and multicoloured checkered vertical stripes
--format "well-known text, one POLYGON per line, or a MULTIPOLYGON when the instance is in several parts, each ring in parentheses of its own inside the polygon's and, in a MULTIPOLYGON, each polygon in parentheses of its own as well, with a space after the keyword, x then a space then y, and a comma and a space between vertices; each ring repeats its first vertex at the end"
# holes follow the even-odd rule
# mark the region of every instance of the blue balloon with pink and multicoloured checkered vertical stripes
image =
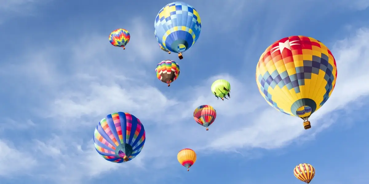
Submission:
POLYGON ((144 125, 129 113, 109 114, 97 125, 93 141, 97 153, 104 159, 115 163, 128 162, 144 147, 144 125))

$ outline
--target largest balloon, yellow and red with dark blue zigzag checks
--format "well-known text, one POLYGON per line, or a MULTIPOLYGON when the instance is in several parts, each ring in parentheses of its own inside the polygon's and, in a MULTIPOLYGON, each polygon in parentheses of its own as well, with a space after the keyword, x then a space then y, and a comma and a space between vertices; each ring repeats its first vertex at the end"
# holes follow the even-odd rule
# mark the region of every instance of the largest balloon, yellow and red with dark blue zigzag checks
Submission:
POLYGON ((321 42, 306 36, 270 45, 256 66, 256 84, 269 105, 304 120, 327 102, 337 79, 336 61, 321 42))

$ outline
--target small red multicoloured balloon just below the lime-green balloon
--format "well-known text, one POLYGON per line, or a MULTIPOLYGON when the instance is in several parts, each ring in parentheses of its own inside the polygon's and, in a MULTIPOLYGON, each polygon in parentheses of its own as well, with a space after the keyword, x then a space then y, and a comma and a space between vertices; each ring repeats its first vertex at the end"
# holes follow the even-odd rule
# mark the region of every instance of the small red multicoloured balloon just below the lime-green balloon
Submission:
POLYGON ((209 130, 208 126, 214 123, 216 117, 217 112, 210 105, 199 106, 193 112, 193 118, 195 119, 196 123, 206 127, 206 130, 209 130))

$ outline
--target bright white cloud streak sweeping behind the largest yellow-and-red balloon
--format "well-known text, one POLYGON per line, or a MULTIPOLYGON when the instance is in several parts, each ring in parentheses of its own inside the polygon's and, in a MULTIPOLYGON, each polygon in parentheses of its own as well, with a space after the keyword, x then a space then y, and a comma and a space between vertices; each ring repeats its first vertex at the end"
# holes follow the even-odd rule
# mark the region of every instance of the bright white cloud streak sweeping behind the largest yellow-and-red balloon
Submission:
MULTIPOLYGON (((369 84, 363 80, 369 77, 369 29, 363 28, 355 36, 338 41, 331 49, 337 61, 337 85, 324 106, 311 117, 312 129, 302 129, 299 118, 289 117, 268 107, 256 117, 251 125, 238 131, 225 133, 215 139, 210 147, 215 149, 258 147, 278 148, 301 135, 311 134, 318 127, 326 127, 334 110, 345 109, 369 94, 369 84)), ((248 117, 250 118, 250 117, 248 117)), ((321 131, 321 129, 318 129, 321 131)))

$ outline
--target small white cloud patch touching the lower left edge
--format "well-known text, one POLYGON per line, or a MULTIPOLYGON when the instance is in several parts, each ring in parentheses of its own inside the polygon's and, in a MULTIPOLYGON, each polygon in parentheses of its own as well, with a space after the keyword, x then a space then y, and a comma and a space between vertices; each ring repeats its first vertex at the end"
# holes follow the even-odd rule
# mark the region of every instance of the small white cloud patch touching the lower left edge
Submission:
MULTIPOLYGON (((22 150, 22 149, 21 149, 22 150)), ((24 149, 23 149, 24 150, 24 149)), ((26 152, 19 151, 0 139, 0 176, 8 177, 30 171, 37 161, 26 152)))

